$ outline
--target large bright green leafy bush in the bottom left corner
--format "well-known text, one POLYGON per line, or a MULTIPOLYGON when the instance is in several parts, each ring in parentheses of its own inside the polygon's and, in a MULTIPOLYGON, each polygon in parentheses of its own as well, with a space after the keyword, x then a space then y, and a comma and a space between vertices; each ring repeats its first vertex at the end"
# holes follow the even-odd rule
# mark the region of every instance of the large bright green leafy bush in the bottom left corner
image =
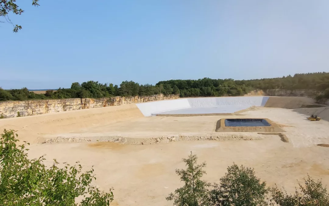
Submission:
POLYGON ((79 196, 84 206, 109 205, 113 200, 112 188, 103 192, 91 185, 96 180, 93 168, 83 173, 78 162, 59 168, 56 160, 47 168, 44 156, 27 158, 29 143, 16 146, 17 136, 14 131, 1 134, 0 205, 77 205, 79 196))

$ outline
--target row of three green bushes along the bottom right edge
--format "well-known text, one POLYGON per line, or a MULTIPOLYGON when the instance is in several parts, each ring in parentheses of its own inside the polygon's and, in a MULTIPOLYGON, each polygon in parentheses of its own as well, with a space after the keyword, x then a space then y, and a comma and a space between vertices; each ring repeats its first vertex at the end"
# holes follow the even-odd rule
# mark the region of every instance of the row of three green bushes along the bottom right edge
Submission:
POLYGON ((186 162, 187 169, 177 169, 185 184, 167 200, 174 200, 177 206, 328 206, 329 194, 320 180, 310 176, 304 179, 305 186, 299 183, 299 191, 288 194, 277 186, 267 188, 266 182, 256 177, 253 168, 238 166, 235 163, 227 168, 219 184, 209 184, 201 180, 206 166, 197 165, 197 156, 190 154, 186 162))

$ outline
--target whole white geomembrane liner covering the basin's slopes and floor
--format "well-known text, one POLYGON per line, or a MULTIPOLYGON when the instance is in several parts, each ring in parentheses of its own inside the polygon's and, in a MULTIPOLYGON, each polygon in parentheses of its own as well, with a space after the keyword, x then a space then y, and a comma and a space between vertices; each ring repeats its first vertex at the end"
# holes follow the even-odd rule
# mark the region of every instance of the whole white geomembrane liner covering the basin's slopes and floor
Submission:
POLYGON ((139 103, 144 116, 157 114, 233 113, 251 106, 265 106, 269 97, 206 97, 139 103))

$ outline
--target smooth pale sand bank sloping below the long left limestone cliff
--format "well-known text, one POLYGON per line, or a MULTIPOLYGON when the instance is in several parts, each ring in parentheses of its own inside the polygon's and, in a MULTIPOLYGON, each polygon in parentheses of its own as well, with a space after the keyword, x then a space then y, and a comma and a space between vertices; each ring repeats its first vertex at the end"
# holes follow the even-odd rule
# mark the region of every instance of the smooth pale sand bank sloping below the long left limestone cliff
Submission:
POLYGON ((104 126, 115 122, 144 117, 136 104, 79 109, 35 116, 0 119, 0 132, 16 130, 20 140, 38 142, 49 133, 80 132, 90 127, 104 126), (82 129, 82 131, 81 131, 82 129))

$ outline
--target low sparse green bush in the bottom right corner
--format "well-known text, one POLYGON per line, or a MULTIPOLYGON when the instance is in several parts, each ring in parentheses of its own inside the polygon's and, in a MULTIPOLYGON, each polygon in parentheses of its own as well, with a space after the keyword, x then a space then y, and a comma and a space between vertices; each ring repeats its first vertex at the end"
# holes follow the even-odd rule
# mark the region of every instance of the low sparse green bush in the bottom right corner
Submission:
POLYGON ((329 194, 326 188, 323 188, 322 182, 312 179, 307 175, 307 179, 303 179, 305 186, 298 183, 300 191, 294 194, 288 194, 284 188, 280 190, 277 186, 271 189, 272 200, 271 205, 280 206, 325 206, 329 205, 329 194))

